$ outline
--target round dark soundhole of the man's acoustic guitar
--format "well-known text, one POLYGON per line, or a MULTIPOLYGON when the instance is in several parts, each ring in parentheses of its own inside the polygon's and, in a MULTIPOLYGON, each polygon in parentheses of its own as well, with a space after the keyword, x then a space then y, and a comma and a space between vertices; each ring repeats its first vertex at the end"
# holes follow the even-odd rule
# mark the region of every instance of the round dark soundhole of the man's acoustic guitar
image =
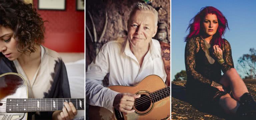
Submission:
POLYGON ((141 94, 140 98, 135 99, 134 107, 140 111, 146 111, 151 105, 151 99, 146 94, 141 94))

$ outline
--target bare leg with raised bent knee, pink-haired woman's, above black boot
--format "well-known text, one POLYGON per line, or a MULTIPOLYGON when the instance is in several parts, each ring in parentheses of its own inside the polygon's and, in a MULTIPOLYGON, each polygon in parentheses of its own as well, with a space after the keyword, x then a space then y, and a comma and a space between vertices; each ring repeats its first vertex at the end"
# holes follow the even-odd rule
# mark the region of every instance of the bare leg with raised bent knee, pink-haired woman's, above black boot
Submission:
POLYGON ((231 88, 232 95, 237 101, 240 101, 240 97, 248 92, 244 81, 240 78, 235 68, 226 71, 220 79, 220 84, 224 85, 226 88, 231 88))

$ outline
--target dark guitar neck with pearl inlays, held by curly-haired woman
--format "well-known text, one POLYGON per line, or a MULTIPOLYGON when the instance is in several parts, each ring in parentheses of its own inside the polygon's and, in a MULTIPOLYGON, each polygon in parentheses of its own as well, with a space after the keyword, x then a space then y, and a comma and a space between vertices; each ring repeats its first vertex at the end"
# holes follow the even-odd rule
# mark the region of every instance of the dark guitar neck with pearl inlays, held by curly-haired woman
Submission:
POLYGON ((62 110, 64 102, 72 102, 77 110, 84 110, 84 98, 8 98, 6 112, 57 111, 62 110))

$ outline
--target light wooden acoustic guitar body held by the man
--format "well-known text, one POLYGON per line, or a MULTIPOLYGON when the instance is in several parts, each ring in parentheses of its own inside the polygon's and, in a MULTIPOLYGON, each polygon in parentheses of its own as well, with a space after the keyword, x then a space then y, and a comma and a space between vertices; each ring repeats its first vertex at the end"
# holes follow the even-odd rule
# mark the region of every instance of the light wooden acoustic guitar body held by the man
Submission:
MULTIPOLYGON (((146 98, 150 93, 165 87, 166 85, 161 77, 149 75, 136 86, 114 85, 108 88, 120 93, 141 94, 141 97, 146 98)), ((108 109, 103 107, 90 105, 89 118, 90 120, 167 120, 170 119, 170 96, 154 103, 144 104, 142 108, 137 109, 133 106, 133 109, 135 109, 134 113, 121 114, 114 108, 114 113, 111 113, 108 109), (120 114, 123 118, 118 118, 120 114)))

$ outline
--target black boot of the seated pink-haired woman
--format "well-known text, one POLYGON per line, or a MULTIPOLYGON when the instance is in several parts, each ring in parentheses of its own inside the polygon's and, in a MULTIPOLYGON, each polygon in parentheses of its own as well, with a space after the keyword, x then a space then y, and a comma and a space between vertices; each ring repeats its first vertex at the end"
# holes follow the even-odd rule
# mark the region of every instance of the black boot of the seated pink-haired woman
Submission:
POLYGON ((249 93, 240 97, 240 106, 236 114, 241 120, 256 120, 256 102, 249 93))

